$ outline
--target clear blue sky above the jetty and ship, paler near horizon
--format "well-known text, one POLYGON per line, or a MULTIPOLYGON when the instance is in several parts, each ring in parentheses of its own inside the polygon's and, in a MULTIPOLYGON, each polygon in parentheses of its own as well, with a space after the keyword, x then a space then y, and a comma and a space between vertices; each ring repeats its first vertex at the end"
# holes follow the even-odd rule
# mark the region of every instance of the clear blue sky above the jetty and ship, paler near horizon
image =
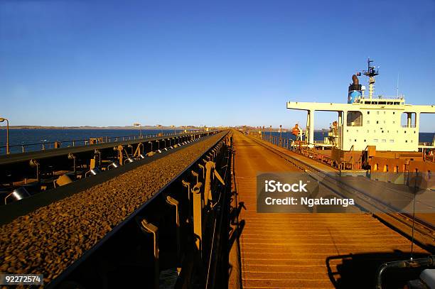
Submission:
MULTIPOLYGON (((291 127, 306 116, 287 101, 346 102, 368 56, 378 94, 396 94, 399 73, 407 103, 433 104, 434 53, 433 0, 0 0, 0 115, 291 127)), ((332 119, 319 114, 316 128, 332 119)), ((434 116, 421 131, 435 131, 434 116)))

